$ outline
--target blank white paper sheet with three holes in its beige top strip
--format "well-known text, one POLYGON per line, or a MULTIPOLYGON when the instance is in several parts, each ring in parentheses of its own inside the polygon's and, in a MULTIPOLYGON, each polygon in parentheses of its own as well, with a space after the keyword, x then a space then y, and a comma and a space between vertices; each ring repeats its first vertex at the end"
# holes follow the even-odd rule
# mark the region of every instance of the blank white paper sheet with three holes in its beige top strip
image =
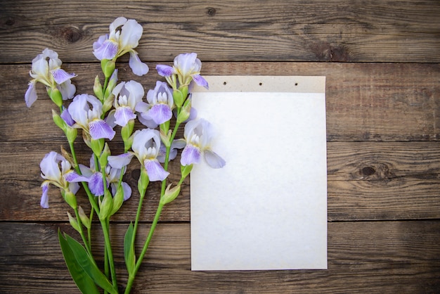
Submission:
POLYGON ((327 269, 325 77, 205 78, 226 166, 190 174, 191 269, 327 269))

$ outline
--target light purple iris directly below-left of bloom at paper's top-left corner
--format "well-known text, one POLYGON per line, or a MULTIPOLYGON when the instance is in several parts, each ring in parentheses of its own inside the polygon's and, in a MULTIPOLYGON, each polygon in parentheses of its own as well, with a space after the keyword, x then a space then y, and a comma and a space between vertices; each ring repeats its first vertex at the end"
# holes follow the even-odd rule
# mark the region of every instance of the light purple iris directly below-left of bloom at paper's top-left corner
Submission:
POLYGON ((136 110, 141 113, 143 119, 140 121, 147 127, 155 128, 171 120, 174 101, 167 83, 157 81, 155 89, 148 90, 147 101, 148 103, 141 101, 136 105, 136 110))

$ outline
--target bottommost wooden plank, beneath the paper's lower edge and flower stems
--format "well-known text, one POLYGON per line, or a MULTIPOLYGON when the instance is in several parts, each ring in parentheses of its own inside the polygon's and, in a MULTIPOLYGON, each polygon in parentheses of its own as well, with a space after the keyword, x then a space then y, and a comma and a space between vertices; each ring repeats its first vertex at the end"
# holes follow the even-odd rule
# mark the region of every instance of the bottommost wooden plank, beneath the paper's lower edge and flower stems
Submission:
MULTIPOLYGON (((2 292, 59 293, 62 287, 77 293, 60 254, 58 226, 68 229, 0 223, 2 292)), ((126 227, 111 226, 121 286, 127 281, 121 259, 126 227)), ((141 224, 141 236, 147 229, 141 224)), ((133 293, 436 293, 439 231, 439 221, 329 223, 328 270, 190 271, 189 224, 160 223, 133 293)))

